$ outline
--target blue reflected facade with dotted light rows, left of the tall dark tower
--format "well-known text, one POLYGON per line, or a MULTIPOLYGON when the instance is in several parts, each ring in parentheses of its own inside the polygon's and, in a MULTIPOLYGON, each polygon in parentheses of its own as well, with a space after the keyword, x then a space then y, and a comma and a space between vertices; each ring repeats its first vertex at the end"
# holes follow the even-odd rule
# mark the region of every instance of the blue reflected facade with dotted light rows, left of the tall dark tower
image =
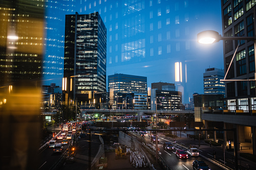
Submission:
POLYGON ((75 0, 45 2, 45 56, 43 84, 61 85, 64 63, 65 15, 74 14, 75 0))

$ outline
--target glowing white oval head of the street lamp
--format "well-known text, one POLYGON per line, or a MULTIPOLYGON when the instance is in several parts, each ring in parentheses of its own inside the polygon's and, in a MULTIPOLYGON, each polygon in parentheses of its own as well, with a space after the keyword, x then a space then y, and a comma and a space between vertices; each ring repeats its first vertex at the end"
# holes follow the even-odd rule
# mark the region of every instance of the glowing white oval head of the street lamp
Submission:
POLYGON ((201 44, 212 44, 216 43, 221 39, 221 35, 219 35, 216 31, 203 31, 197 34, 197 41, 201 44))

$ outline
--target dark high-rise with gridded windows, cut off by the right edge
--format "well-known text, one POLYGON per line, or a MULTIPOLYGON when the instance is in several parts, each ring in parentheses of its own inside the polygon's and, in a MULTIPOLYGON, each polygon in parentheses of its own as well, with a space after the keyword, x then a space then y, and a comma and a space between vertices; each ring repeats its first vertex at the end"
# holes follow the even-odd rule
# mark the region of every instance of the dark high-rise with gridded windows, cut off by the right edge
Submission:
MULTIPOLYGON (((223 37, 255 36, 254 1, 222 0, 221 9, 223 37)), ((211 122, 223 122, 224 129, 236 128, 237 149, 241 142, 248 142, 255 155, 255 81, 249 81, 254 79, 255 73, 253 46, 253 41, 223 41, 224 71, 227 73, 226 79, 230 80, 225 84, 226 108, 219 114, 206 112, 202 114, 202 119, 205 120, 205 128, 211 128, 211 122)), ((233 141, 233 135, 224 132, 225 145, 227 140, 233 141)))

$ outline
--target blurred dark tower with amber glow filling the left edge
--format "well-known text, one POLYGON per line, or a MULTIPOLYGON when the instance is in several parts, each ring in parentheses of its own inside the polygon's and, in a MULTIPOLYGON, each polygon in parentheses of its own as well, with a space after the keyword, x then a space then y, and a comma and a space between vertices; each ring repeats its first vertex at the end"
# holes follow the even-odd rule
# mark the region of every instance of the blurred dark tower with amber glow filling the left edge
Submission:
POLYGON ((44 1, 1 1, 0 23, 0 169, 37 169, 44 1))

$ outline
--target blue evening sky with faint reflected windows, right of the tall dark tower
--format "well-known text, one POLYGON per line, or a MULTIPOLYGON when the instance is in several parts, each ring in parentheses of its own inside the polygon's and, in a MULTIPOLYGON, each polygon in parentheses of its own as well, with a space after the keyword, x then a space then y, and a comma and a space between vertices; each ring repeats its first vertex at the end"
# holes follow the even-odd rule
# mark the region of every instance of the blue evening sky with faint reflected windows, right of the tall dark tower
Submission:
MULTIPOLYGON (((77 3, 79 13, 99 12, 107 28, 107 76, 119 72, 145 76, 149 84, 166 78, 174 82, 175 63, 179 62, 181 78, 176 87, 188 103, 194 91, 192 84, 202 81, 201 77, 194 76, 195 72, 199 75, 204 72, 194 66, 199 62, 222 66, 221 59, 216 59, 216 49, 198 53, 194 43, 201 29, 221 31, 221 14, 216 14, 220 1, 87 0, 77 3), (204 8, 209 6, 212 8, 204 8), (206 56, 207 60, 202 60, 206 56)), ((222 52, 218 51, 217 55, 222 52)))

